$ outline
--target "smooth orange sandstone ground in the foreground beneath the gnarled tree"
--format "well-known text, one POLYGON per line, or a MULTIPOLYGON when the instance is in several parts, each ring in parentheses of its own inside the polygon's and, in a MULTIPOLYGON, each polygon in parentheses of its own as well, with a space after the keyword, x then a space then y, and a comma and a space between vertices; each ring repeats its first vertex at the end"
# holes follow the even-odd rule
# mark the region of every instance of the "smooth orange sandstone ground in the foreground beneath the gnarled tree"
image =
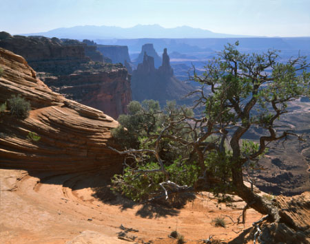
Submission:
POLYGON ((105 184, 98 173, 55 175, 1 169, 0 175, 0 243, 128 243, 118 239, 121 225, 138 230, 126 234, 136 236, 134 243, 176 243, 168 237, 173 230, 185 236, 187 243, 203 243, 210 235, 227 243, 261 217, 250 209, 245 225, 237 225, 233 221, 245 203, 234 197, 226 206, 208 192, 180 209, 132 203, 113 197, 107 187, 94 190, 105 184), (226 228, 214 226, 216 217, 225 218, 226 228))

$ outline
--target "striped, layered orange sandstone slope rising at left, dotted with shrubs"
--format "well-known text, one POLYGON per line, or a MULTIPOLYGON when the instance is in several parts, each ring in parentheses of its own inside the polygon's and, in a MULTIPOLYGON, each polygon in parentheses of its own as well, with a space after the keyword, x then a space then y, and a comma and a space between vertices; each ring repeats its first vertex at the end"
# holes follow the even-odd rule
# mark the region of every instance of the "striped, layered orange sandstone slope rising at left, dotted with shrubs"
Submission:
POLYGON ((0 114, 0 166, 36 170, 119 170, 123 159, 107 148, 118 122, 51 91, 21 56, 0 48, 0 104, 19 94, 30 101, 25 120, 0 114), (28 135, 41 137, 34 142, 28 135))

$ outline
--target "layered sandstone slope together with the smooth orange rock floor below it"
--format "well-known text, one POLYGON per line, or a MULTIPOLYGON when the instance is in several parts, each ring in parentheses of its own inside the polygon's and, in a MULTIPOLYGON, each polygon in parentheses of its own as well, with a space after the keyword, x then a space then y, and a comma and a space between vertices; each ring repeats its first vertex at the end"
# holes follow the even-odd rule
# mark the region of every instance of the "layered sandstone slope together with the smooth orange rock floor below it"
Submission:
MULTIPOLYGON (((0 104, 17 94, 31 104, 25 120, 0 113, 2 243, 127 243, 132 235, 122 237, 124 228, 138 230, 138 243, 174 243, 167 234, 175 228, 187 239, 207 238, 206 226, 218 239, 237 236, 227 236, 211 219, 223 213, 237 218, 245 205, 238 198, 225 206, 205 192, 178 210, 112 194, 110 177, 123 163, 108 148, 117 148, 110 131, 118 122, 54 93, 23 57, 2 48, 0 67, 0 104), (31 140, 30 132, 41 138, 31 140)), ((245 227, 259 217, 249 210, 245 227)), ((243 230, 229 220, 227 228, 243 230)))

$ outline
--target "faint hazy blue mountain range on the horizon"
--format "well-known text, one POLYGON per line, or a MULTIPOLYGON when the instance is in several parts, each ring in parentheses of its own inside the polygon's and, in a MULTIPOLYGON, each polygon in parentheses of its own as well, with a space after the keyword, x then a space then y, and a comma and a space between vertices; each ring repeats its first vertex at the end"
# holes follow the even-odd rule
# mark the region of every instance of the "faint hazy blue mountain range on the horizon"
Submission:
POLYGON ((136 25, 134 27, 116 27, 116 26, 95 26, 84 25, 74 27, 63 27, 50 30, 48 32, 24 34, 25 36, 47 36, 58 38, 74 39, 110 39, 110 38, 232 38, 249 37, 236 34, 221 34, 193 28, 189 26, 180 26, 174 28, 165 28, 161 25, 136 25))

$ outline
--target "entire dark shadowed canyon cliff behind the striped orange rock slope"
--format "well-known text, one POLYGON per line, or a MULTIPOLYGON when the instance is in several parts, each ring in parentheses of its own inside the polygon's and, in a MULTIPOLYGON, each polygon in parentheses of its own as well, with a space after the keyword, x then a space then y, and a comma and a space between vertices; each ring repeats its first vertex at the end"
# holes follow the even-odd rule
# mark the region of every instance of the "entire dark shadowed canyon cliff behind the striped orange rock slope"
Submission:
POLYGON ((113 118, 127 112, 132 99, 130 76, 122 65, 100 62, 103 56, 96 46, 70 39, 1 32, 0 47, 23 56, 40 72, 38 76, 45 84, 66 98, 101 109, 113 118))

